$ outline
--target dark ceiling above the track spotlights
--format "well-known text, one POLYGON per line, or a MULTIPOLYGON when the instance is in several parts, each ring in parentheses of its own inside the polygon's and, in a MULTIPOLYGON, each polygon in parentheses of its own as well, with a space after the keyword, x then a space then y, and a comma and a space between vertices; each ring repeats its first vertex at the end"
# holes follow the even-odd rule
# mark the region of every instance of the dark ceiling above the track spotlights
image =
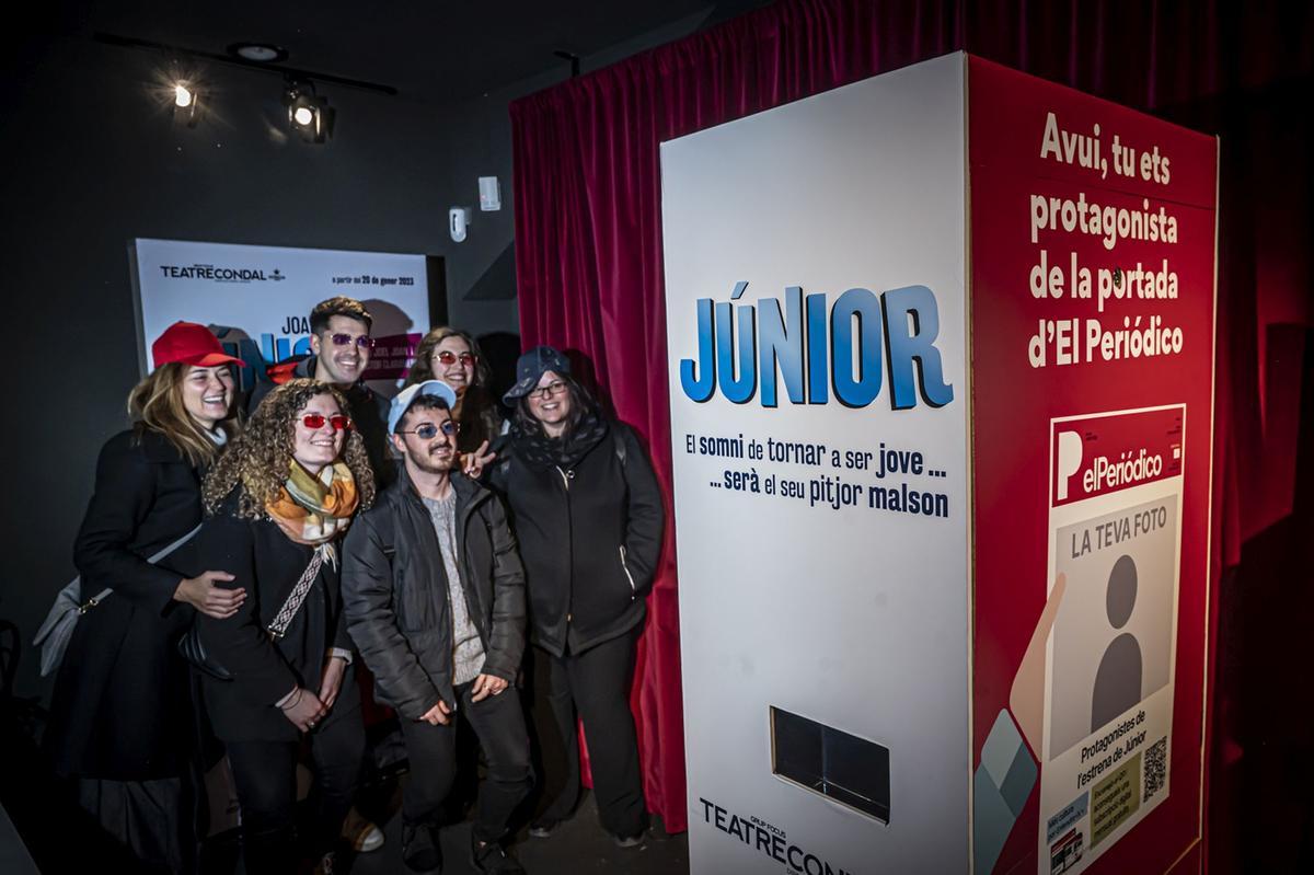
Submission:
POLYGON ((75 3, 59 29, 109 33, 204 53, 234 42, 288 50, 286 66, 374 81, 415 100, 445 102, 561 70, 557 50, 587 58, 678 21, 695 26, 766 0, 326 0, 322 3, 75 3))

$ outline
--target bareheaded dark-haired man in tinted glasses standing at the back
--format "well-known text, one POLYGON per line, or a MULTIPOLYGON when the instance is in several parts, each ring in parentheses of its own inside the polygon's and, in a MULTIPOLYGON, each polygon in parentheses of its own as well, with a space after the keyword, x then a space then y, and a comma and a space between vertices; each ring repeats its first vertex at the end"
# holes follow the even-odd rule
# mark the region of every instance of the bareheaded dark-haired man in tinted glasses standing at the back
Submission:
POLYGON ((247 413, 277 385, 296 377, 310 377, 332 384, 347 397, 352 424, 365 441, 374 480, 380 485, 392 478, 388 456, 388 399, 364 384, 365 368, 374 340, 369 336, 374 321, 365 305, 339 296, 321 301, 310 310, 310 355, 293 356, 268 368, 269 381, 255 384, 247 399, 247 413))

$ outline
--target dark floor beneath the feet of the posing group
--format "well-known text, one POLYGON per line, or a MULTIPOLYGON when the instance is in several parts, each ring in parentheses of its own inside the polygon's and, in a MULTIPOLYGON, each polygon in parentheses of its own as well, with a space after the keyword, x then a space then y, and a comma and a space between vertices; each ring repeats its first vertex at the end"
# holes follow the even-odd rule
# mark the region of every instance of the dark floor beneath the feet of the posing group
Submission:
MULTIPOLYGON (((410 870, 402 864, 401 815, 384 824, 388 842, 377 851, 360 854, 350 867, 352 875, 393 875, 410 870)), ((470 821, 453 824, 442 832, 443 875, 466 875, 470 821)), ((683 875, 689 871, 689 840, 682 833, 669 838, 646 837, 639 847, 620 849, 598 824, 593 795, 585 796, 576 816, 561 824, 548 838, 532 838, 526 828, 511 843, 511 854, 528 875, 683 875)))

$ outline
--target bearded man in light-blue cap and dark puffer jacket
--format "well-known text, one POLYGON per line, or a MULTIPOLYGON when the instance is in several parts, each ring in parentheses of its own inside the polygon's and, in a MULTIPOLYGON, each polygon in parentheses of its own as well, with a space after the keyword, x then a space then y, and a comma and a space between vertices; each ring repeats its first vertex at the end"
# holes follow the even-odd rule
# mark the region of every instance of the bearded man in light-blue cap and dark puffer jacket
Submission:
POLYGON ((520 700, 509 691, 524 650, 524 573, 501 501, 456 468, 456 395, 431 380, 392 402, 397 481, 347 535, 347 625, 401 716, 410 758, 402 859, 442 867, 435 819, 456 776, 456 717, 480 737, 487 778, 472 829, 477 871, 515 874, 502 846, 532 786, 520 700))

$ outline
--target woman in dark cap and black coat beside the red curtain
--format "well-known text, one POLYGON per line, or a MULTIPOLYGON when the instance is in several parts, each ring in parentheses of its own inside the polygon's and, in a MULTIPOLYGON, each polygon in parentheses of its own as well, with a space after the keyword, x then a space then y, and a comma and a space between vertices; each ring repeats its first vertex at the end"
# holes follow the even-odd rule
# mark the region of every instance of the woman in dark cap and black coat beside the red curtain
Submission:
POLYGON ((543 750, 565 752, 565 762, 543 763, 548 799, 530 834, 545 837, 574 813, 578 708, 599 819, 633 847, 646 815, 629 688, 661 550, 657 481, 635 434, 599 411, 557 349, 522 355, 506 399, 515 422, 493 483, 518 523, 524 560, 533 723, 552 740, 543 750))

